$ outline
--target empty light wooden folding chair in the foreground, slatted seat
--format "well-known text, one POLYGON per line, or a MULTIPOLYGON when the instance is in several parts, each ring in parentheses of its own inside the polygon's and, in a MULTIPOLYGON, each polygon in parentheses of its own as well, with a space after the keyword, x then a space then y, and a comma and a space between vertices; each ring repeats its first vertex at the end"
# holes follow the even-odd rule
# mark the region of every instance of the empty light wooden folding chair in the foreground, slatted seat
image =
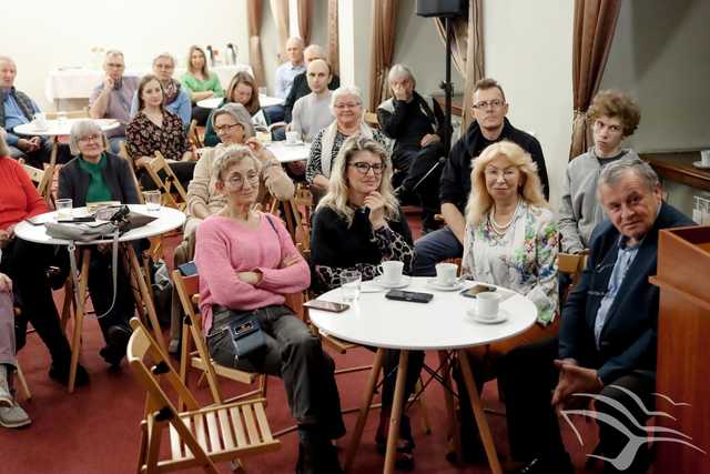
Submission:
POLYGON ((271 433, 264 400, 200 407, 138 317, 131 320, 133 334, 128 345, 128 362, 148 394, 141 422, 138 472, 163 473, 201 467, 217 474, 215 463, 276 451, 281 442, 271 433), (168 381, 184 401, 180 412, 161 386, 168 381), (161 453, 164 428, 169 427, 170 452, 161 453))

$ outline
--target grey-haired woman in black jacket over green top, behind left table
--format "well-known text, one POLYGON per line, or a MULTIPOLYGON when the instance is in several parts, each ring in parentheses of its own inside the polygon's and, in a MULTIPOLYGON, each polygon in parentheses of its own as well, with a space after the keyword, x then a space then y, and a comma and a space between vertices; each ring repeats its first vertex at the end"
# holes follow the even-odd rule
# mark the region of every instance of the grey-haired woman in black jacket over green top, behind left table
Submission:
MULTIPOLYGON (((138 204, 135 178, 128 160, 106 153, 108 141, 101 128, 91 120, 81 120, 71 128, 70 148, 77 154, 59 172, 59 198, 71 199, 74 208, 90 202, 119 201, 138 204)), ((99 315, 99 325, 106 342, 99 354, 116 369, 125 355, 131 336, 129 320, 134 300, 129 273, 119 263, 115 301, 111 248, 92 248, 89 263, 89 293, 99 315), (113 304, 112 304, 113 303, 113 304)))

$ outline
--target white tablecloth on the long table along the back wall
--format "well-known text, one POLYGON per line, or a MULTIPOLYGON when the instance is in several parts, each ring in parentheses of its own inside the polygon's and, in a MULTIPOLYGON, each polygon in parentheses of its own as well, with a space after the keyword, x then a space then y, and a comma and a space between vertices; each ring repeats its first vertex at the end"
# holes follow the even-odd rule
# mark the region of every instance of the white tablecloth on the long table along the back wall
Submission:
MULTIPOLYGON (((220 78, 220 83, 224 89, 230 85, 230 81, 237 72, 247 71, 250 74, 253 74, 252 67, 248 64, 215 65, 210 70, 216 72, 220 78)), ((126 69, 124 74, 142 77, 149 72, 151 72, 149 69, 126 69)), ((180 77, 184 72, 184 68, 176 68, 173 78, 180 80, 180 77)), ((93 88, 103 81, 103 77, 104 72, 102 70, 83 68, 55 69, 50 71, 47 78, 44 94, 50 102, 58 99, 89 99, 93 88)))

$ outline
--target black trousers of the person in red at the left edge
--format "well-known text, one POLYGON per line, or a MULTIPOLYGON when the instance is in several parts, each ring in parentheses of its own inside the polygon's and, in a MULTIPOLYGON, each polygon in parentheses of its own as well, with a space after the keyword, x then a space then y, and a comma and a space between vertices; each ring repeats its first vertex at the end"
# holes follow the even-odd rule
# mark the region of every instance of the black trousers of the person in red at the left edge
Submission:
MULTIPOLYGON (((59 249, 67 252, 67 249, 59 249)), ((69 341, 62 331, 47 269, 54 262, 54 246, 14 239, 2 249, 0 272, 12 279, 22 315, 37 330, 49 349, 52 363, 68 367, 71 359, 69 341)))

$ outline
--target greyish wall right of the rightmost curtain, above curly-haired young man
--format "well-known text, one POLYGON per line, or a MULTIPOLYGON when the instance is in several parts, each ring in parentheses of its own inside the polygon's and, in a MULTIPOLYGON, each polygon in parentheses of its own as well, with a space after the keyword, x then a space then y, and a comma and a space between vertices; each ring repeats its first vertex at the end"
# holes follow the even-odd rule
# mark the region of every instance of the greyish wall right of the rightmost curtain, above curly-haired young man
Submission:
POLYGON ((602 88, 631 92, 641 122, 638 151, 710 147, 710 2, 627 0, 602 88))

